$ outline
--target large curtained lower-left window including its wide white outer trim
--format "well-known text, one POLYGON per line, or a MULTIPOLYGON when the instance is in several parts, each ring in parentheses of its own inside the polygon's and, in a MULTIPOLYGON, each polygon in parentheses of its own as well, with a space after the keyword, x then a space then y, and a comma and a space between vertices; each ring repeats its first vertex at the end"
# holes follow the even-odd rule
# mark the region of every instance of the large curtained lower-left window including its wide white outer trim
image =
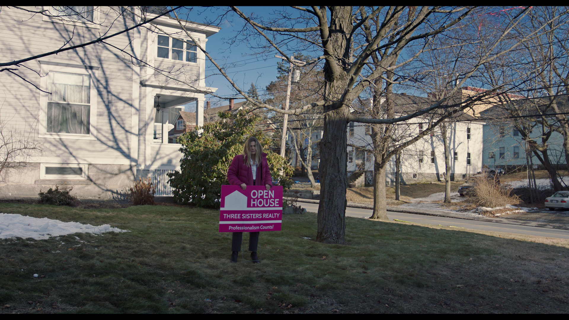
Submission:
POLYGON ((94 140, 97 117, 96 68, 63 67, 40 61, 40 138, 94 140))

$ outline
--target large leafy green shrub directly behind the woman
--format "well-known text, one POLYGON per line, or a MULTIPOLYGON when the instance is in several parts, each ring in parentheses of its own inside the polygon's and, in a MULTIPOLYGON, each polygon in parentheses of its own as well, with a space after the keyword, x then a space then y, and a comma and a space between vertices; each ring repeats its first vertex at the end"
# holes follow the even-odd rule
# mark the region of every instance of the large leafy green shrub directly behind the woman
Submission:
POLYGON ((267 153, 267 161, 273 180, 279 180, 284 189, 292 186, 292 167, 286 160, 270 150, 274 143, 261 130, 257 123, 261 117, 240 110, 237 114, 217 113, 221 118, 203 126, 203 133, 197 131, 184 133, 178 138, 182 144, 180 151, 180 171, 168 173, 168 183, 174 188, 174 199, 179 203, 191 203, 198 207, 219 208, 221 186, 228 184, 227 169, 233 159, 243 151, 245 140, 255 136, 267 153), (281 177, 283 168, 287 177, 281 177))

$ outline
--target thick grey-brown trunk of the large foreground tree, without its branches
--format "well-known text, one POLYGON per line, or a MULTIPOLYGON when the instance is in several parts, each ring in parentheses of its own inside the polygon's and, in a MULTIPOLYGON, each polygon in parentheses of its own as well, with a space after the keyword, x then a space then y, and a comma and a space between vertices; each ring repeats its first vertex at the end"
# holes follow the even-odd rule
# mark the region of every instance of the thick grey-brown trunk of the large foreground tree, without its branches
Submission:
POLYGON ((320 142, 322 178, 316 241, 344 244, 349 108, 343 101, 348 85, 346 70, 351 61, 352 7, 331 7, 329 10, 329 27, 320 29, 327 58, 324 63, 324 133, 320 142))

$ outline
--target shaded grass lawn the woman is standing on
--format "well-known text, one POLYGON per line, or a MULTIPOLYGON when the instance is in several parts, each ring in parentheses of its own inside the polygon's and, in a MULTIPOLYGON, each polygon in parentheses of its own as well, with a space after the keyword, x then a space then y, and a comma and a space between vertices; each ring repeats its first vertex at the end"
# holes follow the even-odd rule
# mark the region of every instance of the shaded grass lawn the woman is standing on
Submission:
POLYGON ((327 245, 314 241, 308 213, 262 232, 261 264, 248 252, 231 264, 215 210, 2 203, 0 212, 131 231, 0 240, 1 313, 568 310, 566 240, 346 218, 348 244, 327 245))

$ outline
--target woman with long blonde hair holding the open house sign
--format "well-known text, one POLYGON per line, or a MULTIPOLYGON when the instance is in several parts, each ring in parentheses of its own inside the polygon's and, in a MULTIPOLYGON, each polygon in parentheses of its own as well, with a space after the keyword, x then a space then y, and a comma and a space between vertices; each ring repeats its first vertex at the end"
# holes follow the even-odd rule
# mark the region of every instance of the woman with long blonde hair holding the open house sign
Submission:
MULTIPOLYGON (((255 137, 249 137, 245 142, 243 154, 238 154, 231 161, 227 170, 227 180, 233 186, 241 186, 243 190, 247 186, 265 186, 270 190, 273 186, 271 171, 267 162, 267 154, 263 153, 261 143, 255 137)), ((233 232, 231 244, 231 262, 237 262, 237 256, 241 251, 243 232, 233 232)), ((261 263, 257 257, 257 244, 259 232, 249 232, 249 251, 253 263, 261 263)))

